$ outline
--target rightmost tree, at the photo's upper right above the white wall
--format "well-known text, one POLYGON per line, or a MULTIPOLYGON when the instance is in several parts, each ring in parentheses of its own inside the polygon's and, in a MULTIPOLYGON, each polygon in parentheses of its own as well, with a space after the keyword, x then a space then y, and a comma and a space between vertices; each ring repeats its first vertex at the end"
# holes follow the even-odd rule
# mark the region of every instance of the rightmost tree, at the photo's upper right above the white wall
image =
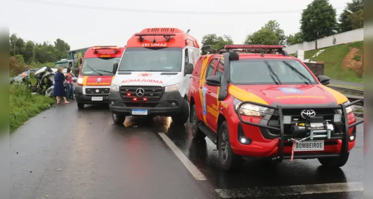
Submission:
POLYGON ((359 10, 364 10, 363 0, 352 0, 352 2, 346 3, 346 8, 342 11, 342 13, 339 15, 339 18, 338 18, 339 20, 338 32, 339 33, 356 29, 352 25, 350 16, 353 13, 359 12, 359 10))

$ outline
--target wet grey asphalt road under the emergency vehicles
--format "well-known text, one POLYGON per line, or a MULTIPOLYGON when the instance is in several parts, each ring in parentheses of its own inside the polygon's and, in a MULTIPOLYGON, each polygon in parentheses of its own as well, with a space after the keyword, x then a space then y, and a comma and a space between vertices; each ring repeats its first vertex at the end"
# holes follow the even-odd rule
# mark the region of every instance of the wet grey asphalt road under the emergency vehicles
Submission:
POLYGON ((56 104, 10 135, 10 198, 363 199, 359 189, 325 193, 346 190, 336 183, 361 187, 362 125, 357 140, 348 163, 338 170, 326 171, 317 160, 274 165, 250 161, 240 172, 226 174, 219 169, 216 146, 207 138, 192 140, 188 124, 177 126, 167 117, 128 117, 124 126, 117 126, 105 106, 78 110, 75 102, 56 104), (206 180, 193 177, 160 132, 206 180), (319 184, 331 185, 315 191, 319 184), (306 186, 294 187, 300 185, 306 186), (294 196, 307 190, 309 194, 294 196))

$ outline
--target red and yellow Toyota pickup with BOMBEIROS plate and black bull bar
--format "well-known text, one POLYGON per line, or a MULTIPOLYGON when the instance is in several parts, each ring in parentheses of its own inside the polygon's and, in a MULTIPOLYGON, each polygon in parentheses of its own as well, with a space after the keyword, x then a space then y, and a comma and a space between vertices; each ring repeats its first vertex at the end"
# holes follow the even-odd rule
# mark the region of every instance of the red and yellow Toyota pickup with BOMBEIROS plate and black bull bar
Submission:
POLYGON ((195 139, 217 145, 221 168, 246 157, 318 158, 342 167, 355 146, 354 104, 282 46, 226 45, 196 63, 189 87, 195 139), (244 53, 245 52, 245 53, 244 53))

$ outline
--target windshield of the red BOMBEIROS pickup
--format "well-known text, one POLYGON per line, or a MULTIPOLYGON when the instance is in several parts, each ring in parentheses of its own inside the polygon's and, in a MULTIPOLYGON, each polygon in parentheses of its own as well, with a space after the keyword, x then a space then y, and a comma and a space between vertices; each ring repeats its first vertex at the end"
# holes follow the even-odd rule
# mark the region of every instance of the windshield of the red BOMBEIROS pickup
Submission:
POLYGON ((230 78, 236 85, 318 84, 302 63, 289 59, 232 61, 230 78))

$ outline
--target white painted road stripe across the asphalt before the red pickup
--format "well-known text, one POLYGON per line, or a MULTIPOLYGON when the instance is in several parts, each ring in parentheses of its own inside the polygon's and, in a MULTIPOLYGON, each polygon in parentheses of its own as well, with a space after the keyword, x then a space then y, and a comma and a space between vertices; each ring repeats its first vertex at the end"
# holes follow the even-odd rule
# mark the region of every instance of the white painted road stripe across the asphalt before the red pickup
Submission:
POLYGON ((264 187, 264 188, 242 188, 242 189, 216 189, 215 192, 221 198, 249 198, 249 197, 272 197, 272 196, 291 196, 305 194, 324 194, 338 192, 356 192, 364 191, 362 182, 356 183, 332 183, 317 185, 295 185, 283 187, 264 187))

